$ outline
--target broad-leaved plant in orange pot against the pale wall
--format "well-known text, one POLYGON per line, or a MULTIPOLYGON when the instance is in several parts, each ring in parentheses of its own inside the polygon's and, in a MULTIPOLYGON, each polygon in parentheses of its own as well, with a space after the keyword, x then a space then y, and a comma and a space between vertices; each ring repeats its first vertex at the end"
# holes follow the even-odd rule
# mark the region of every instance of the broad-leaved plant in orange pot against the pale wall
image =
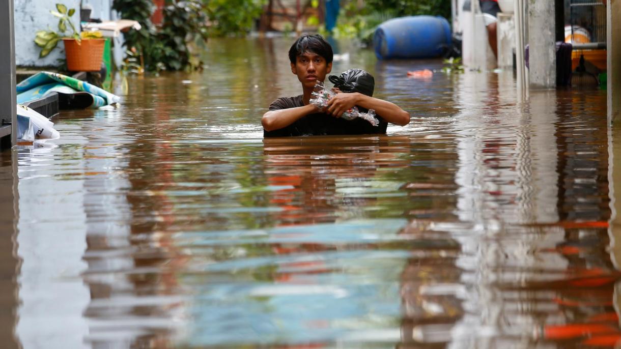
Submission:
POLYGON ((56 4, 57 11, 50 11, 58 17, 58 32, 52 29, 39 30, 35 34, 35 43, 41 48, 39 57, 45 57, 63 40, 67 70, 70 71, 99 71, 104 54, 106 39, 101 32, 82 32, 78 34, 71 16, 75 9, 67 9, 63 4, 56 4), (69 30, 68 34, 67 31, 69 30))

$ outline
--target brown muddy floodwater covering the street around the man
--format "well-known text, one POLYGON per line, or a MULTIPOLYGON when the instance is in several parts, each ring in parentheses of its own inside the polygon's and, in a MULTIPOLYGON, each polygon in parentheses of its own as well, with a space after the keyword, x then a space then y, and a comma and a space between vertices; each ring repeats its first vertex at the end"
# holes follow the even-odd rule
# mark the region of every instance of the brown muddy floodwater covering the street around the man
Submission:
POLYGON ((120 109, 63 111, 60 139, 3 154, 3 343, 621 338, 605 91, 532 91, 522 104, 510 71, 409 79, 442 62, 377 61, 339 43, 350 60, 333 72, 369 70, 376 96, 412 122, 264 140, 267 106, 300 91, 291 41, 211 40, 201 73, 117 81, 120 109))

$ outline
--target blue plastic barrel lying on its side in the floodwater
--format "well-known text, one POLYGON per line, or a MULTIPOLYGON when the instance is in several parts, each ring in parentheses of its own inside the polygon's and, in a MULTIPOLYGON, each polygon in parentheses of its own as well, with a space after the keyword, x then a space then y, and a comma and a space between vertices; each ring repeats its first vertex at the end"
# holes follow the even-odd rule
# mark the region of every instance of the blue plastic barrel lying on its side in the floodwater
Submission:
POLYGON ((431 58, 451 43, 448 20, 434 16, 399 17, 380 24, 373 45, 379 59, 431 58))

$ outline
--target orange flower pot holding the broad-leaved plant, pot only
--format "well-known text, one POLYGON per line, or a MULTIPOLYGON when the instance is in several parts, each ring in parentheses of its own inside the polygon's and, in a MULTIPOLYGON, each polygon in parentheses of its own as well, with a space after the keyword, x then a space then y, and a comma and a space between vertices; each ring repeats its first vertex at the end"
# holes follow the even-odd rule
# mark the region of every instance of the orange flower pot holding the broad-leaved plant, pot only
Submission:
POLYGON ((106 39, 82 39, 78 43, 75 39, 63 39, 67 70, 69 71, 99 71, 101 59, 104 57, 106 39))

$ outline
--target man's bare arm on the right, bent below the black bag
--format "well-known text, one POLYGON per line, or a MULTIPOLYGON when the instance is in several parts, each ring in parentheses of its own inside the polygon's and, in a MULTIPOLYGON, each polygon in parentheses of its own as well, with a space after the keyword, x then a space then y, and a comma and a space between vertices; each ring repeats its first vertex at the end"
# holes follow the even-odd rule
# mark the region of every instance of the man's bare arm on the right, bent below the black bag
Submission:
POLYGON ((337 93, 328 101, 327 112, 335 117, 340 117, 343 112, 354 106, 373 109, 376 114, 391 124, 405 126, 410 122, 410 114, 396 104, 357 92, 337 93))

